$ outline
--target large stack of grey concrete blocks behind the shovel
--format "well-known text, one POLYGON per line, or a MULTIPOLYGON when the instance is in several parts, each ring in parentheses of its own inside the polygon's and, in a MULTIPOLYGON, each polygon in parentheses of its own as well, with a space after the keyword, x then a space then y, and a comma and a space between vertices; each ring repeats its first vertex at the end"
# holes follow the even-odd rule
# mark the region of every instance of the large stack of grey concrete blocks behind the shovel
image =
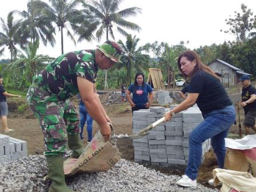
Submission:
MULTIPOLYGON (((150 107, 150 111, 134 111, 133 133, 145 129, 174 107, 150 107)), ((197 106, 175 114, 169 122, 161 123, 145 137, 133 141, 135 162, 162 167, 187 165, 189 134, 202 121, 202 114, 197 106)), ((202 158, 209 149, 210 139, 203 143, 202 158)))

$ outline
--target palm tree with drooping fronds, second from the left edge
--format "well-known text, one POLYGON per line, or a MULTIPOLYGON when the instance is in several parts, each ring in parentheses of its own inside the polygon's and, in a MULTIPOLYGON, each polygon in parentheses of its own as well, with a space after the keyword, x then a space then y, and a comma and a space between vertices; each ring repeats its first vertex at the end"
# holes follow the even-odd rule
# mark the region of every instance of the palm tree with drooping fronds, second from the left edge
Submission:
POLYGON ((30 42, 35 42, 35 39, 40 38, 46 46, 50 42, 51 46, 55 45, 55 30, 49 18, 41 14, 41 9, 45 2, 40 0, 30 0, 27 3, 27 11, 14 10, 13 13, 20 15, 23 18, 21 22, 21 45, 26 43, 30 38, 30 42))

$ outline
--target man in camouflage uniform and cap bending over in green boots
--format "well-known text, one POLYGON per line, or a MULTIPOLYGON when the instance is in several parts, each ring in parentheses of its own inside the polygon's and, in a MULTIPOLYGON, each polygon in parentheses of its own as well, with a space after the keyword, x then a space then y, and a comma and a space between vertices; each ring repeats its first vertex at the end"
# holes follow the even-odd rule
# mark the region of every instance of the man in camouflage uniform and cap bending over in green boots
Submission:
POLYGON ((73 191, 67 187, 63 171, 66 143, 73 150, 73 158, 79 158, 83 151, 79 137, 79 114, 69 98, 80 93, 103 137, 106 141, 110 138, 107 122, 111 120, 99 101, 95 80, 98 68, 106 70, 121 62, 121 53, 117 43, 106 41, 96 50, 74 51, 59 56, 33 78, 26 99, 43 131, 45 156, 52 181, 50 192, 73 191))

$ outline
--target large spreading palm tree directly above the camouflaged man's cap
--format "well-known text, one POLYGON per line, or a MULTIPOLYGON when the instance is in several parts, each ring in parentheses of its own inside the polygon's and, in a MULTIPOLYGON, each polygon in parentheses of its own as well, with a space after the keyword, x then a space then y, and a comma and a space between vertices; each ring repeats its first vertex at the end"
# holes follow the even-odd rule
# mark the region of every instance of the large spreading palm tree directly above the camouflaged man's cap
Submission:
MULTIPOLYGON (((82 0, 85 11, 89 10, 90 14, 87 14, 87 22, 81 25, 82 30, 80 32, 79 41, 86 39, 89 34, 96 31, 96 37, 98 41, 101 41, 102 35, 106 33, 106 39, 109 39, 109 34, 113 39, 115 27, 119 33, 127 35, 125 29, 130 30, 141 30, 137 24, 133 22, 126 21, 125 18, 129 16, 136 16, 138 13, 141 13, 141 9, 138 7, 130 7, 124 10, 119 10, 119 5, 123 0, 100 0, 95 1, 91 0, 91 3, 86 3, 82 0), (90 25, 88 25, 88 21, 90 25), (123 29, 125 28, 125 29, 123 29)), ((107 71, 105 73, 105 86, 107 87, 107 71)))

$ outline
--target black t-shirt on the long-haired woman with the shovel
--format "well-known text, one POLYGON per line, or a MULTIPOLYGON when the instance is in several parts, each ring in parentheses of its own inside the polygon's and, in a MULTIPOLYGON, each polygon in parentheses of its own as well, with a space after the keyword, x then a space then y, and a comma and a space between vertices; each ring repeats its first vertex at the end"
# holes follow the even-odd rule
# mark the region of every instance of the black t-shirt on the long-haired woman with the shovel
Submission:
POLYGON ((219 79, 205 71, 198 71, 191 78, 189 93, 199 93, 197 105, 202 114, 232 105, 219 79))

